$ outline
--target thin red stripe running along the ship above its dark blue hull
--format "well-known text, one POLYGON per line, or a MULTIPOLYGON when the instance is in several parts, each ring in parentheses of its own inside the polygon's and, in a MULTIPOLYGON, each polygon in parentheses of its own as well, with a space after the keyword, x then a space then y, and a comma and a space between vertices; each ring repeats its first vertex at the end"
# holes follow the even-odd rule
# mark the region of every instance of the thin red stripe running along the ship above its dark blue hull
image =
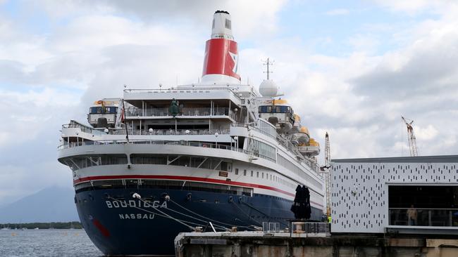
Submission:
MULTIPOLYGON (((280 192, 285 195, 289 195, 291 197, 295 197, 295 194, 292 194, 290 192, 287 192, 285 190, 278 189, 276 187, 269 187, 268 185, 258 185, 258 184, 252 184, 252 183, 243 183, 243 182, 237 182, 237 181, 226 181, 226 180, 221 180, 221 179, 215 179, 215 178, 197 178, 197 177, 188 177, 188 176, 168 176, 168 175, 118 175, 118 176, 89 176, 85 178, 79 178, 77 180, 73 180, 73 185, 89 181, 89 180, 106 180, 106 179, 141 179, 141 178, 153 178, 153 179, 164 179, 164 180, 187 180, 187 181, 199 181, 199 182, 209 182, 209 183, 218 183, 218 184, 225 184, 225 185, 240 185, 243 187, 255 187, 255 188, 261 188, 265 190, 272 190, 276 192, 280 192)), ((311 201, 310 201, 311 202, 311 201)), ((318 204, 316 202, 311 202, 312 204, 315 204, 321 208, 323 208, 323 205, 318 204)))

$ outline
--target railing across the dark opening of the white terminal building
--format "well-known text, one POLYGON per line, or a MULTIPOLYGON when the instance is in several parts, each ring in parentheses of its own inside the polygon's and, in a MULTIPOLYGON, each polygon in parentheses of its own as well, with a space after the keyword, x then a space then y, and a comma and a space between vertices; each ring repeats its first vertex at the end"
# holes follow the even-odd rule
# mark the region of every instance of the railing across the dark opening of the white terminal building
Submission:
POLYGON ((458 227, 458 209, 390 208, 390 225, 458 227))

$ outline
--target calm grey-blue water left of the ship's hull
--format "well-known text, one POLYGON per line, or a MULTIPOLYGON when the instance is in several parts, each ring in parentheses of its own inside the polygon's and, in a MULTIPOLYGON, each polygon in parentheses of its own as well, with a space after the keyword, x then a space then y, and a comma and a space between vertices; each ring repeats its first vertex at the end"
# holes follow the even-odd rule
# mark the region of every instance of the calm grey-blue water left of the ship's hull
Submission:
POLYGON ((0 230, 0 256, 103 256, 85 230, 0 230))

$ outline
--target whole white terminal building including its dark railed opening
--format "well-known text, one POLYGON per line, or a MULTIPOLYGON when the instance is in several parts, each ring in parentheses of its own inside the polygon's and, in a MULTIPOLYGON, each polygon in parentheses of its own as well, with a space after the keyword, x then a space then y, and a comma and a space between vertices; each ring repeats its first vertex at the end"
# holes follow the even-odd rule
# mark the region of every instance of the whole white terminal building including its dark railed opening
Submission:
POLYGON ((458 155, 333 159, 335 233, 458 235, 458 155))

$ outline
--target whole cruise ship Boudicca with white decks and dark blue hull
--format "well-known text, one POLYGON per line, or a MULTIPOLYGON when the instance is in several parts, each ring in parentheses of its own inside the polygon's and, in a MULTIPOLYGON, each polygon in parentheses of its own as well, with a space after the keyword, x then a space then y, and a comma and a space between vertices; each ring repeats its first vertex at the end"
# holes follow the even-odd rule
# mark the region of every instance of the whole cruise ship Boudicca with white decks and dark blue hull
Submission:
MULTIPOLYGON (((295 190, 323 215, 320 148, 271 79, 242 84, 230 14, 216 11, 195 84, 125 88, 61 130, 82 226, 106 255, 173 256, 194 230, 288 226, 295 190)), ((304 121, 302 121, 304 122, 304 121)))

